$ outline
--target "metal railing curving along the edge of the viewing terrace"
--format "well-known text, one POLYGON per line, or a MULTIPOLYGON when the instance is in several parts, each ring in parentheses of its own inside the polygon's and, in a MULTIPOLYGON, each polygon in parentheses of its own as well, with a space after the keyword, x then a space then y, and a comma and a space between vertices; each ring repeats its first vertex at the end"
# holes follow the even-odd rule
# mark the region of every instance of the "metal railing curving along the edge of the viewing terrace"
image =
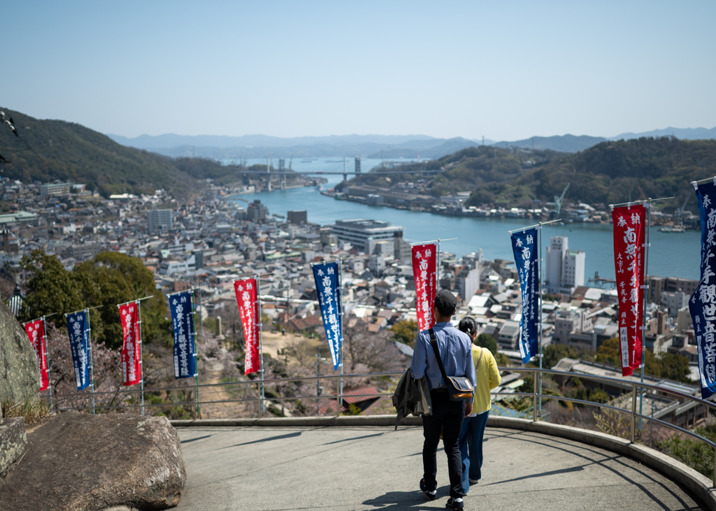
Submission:
MULTIPOLYGON (((710 439, 707 439, 705 437, 702 437, 700 434, 697 434, 695 432, 689 431, 688 429, 684 429, 682 427, 677 426, 676 424, 672 424, 670 422, 663 421, 662 419, 657 419, 655 417, 649 417, 649 415, 639 414, 637 413, 637 396, 639 394, 637 393, 637 389, 643 389, 643 390, 650 390, 650 391, 657 391, 662 392, 664 394, 669 394, 671 396, 676 396, 677 398, 684 399, 687 401, 692 401, 695 404, 701 404, 707 409, 707 414, 709 411, 716 412, 716 404, 712 401, 707 401, 705 399, 701 399, 696 396, 692 396, 691 394, 685 394, 684 392, 675 391, 672 389, 667 389, 662 386, 653 385, 653 384, 647 384, 647 383, 641 383, 639 381, 629 381, 619 378, 611 378, 609 376, 594 376, 591 374, 584 374, 584 373, 573 373, 573 372, 566 372, 566 371, 555 371, 553 369, 538 369, 538 368, 531 368, 531 367, 499 367, 500 371, 511 371, 516 373, 526 373, 526 374, 532 374, 533 376, 533 389, 532 392, 491 392, 492 395, 499 395, 499 396, 526 396, 526 397, 532 397, 533 400, 533 422, 538 422, 538 411, 540 410, 540 407, 538 407, 538 399, 556 399, 558 401, 569 401, 571 403, 576 404, 582 404, 589 407, 599 407, 600 409, 609 409, 613 410, 614 412, 620 412, 624 414, 629 414, 631 417, 631 426, 630 426, 630 442, 634 443, 636 438, 636 429, 637 429, 637 419, 652 421, 657 424, 661 424, 664 427, 668 427, 670 429, 674 429, 675 431, 683 434, 687 434, 690 437, 694 437, 696 439, 699 439, 701 442, 705 442, 705 444, 709 445, 714 449, 715 452, 715 463, 714 463, 714 473, 712 477, 713 486, 716 487, 716 443, 712 442, 710 439), (607 383, 607 384, 613 384, 614 386, 619 386, 621 388, 624 388, 624 386, 631 386, 632 387, 632 407, 631 410, 614 407, 611 404, 604 404, 604 403, 598 403, 596 401, 585 401, 583 399, 575 399, 571 397, 566 396, 553 396, 550 394, 539 394, 538 393, 538 379, 540 379, 542 374, 553 374, 556 376, 564 376, 566 378, 571 378, 573 376, 579 377, 579 379, 584 379, 588 381, 599 381, 601 383, 607 383)), ((364 374, 344 374, 343 376, 337 374, 337 375, 320 375, 320 376, 301 376, 298 378, 279 378, 279 379, 254 379, 254 380, 246 380, 246 381, 226 381, 223 383, 217 383, 217 384, 198 384, 198 385, 185 385, 185 386, 168 386, 168 387, 157 387, 157 388, 145 388, 145 393, 153 393, 156 391, 192 391, 194 389, 200 389, 200 388, 206 388, 206 387, 216 387, 216 386, 241 386, 241 385, 261 385, 261 384, 283 384, 287 383, 289 381, 309 381, 309 380, 322 380, 322 379, 337 379, 337 378, 357 378, 357 377, 376 377, 376 376, 397 376, 402 375, 402 372, 384 372, 384 373, 364 373, 364 374)), ((141 389, 119 389, 117 391, 99 391, 95 392, 95 394, 132 394, 142 392, 141 389)), ((73 393, 73 394, 54 394, 54 397, 60 398, 57 399, 56 406, 62 403, 62 401, 67 400, 70 396, 87 396, 89 397, 89 393, 73 393)), ((336 394, 316 394, 316 395, 309 395, 309 396, 271 396, 264 399, 264 401, 296 401, 298 399, 310 399, 310 400, 316 400, 319 401, 321 399, 329 399, 332 401, 336 401, 336 411, 335 414, 339 415, 341 412, 340 407, 338 406, 341 399, 345 397, 380 397, 380 396, 392 396, 392 393, 389 392, 380 392, 380 393, 364 393, 364 394, 346 394, 346 393, 340 393, 337 392, 336 394)), ((218 404, 218 403, 242 403, 242 402, 251 402, 251 401, 261 401, 261 397, 252 397, 252 398, 241 398, 241 399, 221 399, 216 401, 183 401, 183 402, 169 402, 169 403, 147 403, 145 402, 145 407, 195 407, 197 405, 201 404, 218 404)), ((137 408, 140 407, 140 404, 118 404, 118 405, 97 405, 97 409, 122 409, 122 408, 137 408)), ((84 410, 88 407, 59 407, 57 406, 58 410, 73 410, 73 409, 79 409, 84 410)), ((261 417, 261 407, 258 407, 258 415, 261 417)))

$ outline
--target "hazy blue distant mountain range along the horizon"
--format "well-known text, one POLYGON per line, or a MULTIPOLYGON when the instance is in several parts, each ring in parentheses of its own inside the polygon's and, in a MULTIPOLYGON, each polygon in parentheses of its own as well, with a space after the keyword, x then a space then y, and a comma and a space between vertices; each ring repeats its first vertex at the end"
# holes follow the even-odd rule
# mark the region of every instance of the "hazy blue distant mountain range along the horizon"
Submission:
MULTIPOLYGON (((589 135, 555 135, 531 137, 523 140, 485 140, 485 145, 496 147, 523 147, 526 149, 579 152, 607 140, 630 140, 641 137, 664 137, 674 135, 679 139, 716 139, 716 127, 674 128, 642 133, 622 133, 616 137, 591 137, 589 135)), ((428 135, 331 135, 328 137, 271 137, 269 135, 140 135, 128 138, 107 134, 115 142, 128 147, 158 152, 171 157, 199 156, 215 160, 274 157, 342 157, 363 156, 379 158, 420 157, 434 159, 455 151, 483 144, 482 140, 462 137, 450 139, 428 135)))

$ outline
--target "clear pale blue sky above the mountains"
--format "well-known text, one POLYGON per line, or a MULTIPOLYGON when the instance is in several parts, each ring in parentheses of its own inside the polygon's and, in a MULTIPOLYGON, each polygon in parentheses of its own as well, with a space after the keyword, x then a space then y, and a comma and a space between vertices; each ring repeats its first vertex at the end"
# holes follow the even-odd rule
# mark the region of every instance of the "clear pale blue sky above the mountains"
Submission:
POLYGON ((716 2, 5 2, 0 104, 134 137, 716 125, 716 2))

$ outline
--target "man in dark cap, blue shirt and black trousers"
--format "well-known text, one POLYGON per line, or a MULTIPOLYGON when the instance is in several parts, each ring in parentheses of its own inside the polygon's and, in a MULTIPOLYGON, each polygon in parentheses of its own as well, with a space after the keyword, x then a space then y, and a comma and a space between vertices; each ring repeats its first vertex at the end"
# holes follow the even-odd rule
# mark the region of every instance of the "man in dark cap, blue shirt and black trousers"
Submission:
MULTIPOLYGON (((455 314, 457 299, 447 289, 442 289, 435 296, 435 326, 433 331, 440 351, 442 365, 447 376, 465 376, 475 387, 475 365, 470 336, 458 330, 450 323, 455 314)), ((427 376, 432 400, 432 412, 422 417, 422 434, 425 443, 422 446, 423 478, 420 490, 427 500, 435 500, 437 496, 437 444, 440 442, 448 454, 448 474, 450 476, 450 499, 448 507, 463 510, 463 462, 460 458, 458 437, 463 427, 463 419, 473 410, 473 400, 450 401, 448 388, 440 375, 435 352, 430 346, 430 331, 422 331, 415 341, 415 352, 412 355, 412 376, 420 379, 427 376)))

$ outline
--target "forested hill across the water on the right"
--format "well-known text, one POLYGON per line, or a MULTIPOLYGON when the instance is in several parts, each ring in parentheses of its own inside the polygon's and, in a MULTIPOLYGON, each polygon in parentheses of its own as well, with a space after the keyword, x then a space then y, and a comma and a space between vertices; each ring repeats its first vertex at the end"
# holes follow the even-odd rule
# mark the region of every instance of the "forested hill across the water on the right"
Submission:
MULTIPOLYGON (((530 205, 551 202, 570 183, 566 199, 589 204, 621 203, 645 198, 676 198, 680 207, 692 180, 716 175, 716 140, 644 137, 602 142, 576 154, 518 147, 471 147, 439 160, 400 167, 404 175, 366 175, 367 184, 387 185, 425 179, 433 195, 470 191, 470 205, 505 202, 530 205), (435 177, 423 170, 443 171, 435 177)), ((695 200, 692 206, 695 210, 695 200)))

